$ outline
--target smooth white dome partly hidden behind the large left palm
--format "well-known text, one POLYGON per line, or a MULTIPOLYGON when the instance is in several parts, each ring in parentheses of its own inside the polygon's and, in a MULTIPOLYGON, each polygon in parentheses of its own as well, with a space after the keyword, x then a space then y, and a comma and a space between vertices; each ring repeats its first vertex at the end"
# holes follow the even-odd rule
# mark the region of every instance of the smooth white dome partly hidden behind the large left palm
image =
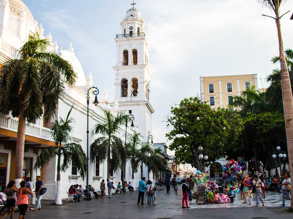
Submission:
POLYGON ((86 85, 86 77, 84 75, 84 70, 75 56, 74 52, 68 50, 62 50, 61 54, 59 54, 61 58, 64 58, 66 61, 69 61, 72 65, 74 72, 77 74, 76 83, 74 86, 85 86, 86 85))

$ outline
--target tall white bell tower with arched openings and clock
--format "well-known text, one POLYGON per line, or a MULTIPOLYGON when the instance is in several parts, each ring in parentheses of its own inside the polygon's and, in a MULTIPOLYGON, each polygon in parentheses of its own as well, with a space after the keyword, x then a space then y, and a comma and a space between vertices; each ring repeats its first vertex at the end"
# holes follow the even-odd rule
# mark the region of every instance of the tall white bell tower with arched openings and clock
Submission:
MULTIPOLYGON (((151 114, 154 113, 149 102, 151 73, 149 71, 150 47, 145 34, 146 25, 141 13, 134 7, 126 12, 120 23, 121 34, 117 34, 117 58, 115 70, 115 100, 119 110, 129 110, 135 117, 138 132, 143 142, 152 133, 151 114)), ((114 106, 114 104, 113 104, 114 106)), ((130 124, 129 124, 130 125, 130 124)))

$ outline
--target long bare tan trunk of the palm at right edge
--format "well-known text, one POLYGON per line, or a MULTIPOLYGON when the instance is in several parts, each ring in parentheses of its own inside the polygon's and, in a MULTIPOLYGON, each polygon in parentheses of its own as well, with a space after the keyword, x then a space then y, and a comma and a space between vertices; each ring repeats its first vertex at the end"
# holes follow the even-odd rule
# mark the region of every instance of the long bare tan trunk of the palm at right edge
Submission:
MULTIPOLYGON (((277 31, 279 39, 279 51, 280 51, 280 64, 281 64, 281 81, 282 81, 282 97, 284 106, 285 126, 286 126, 286 138, 288 149, 288 161, 289 170, 293 175, 293 96, 292 85, 290 82, 288 67, 285 58, 285 52, 283 47, 282 32, 280 25, 280 18, 277 15, 277 31)), ((293 194, 293 186, 291 186, 291 194, 293 194)), ((293 199, 291 199, 291 210, 293 210, 293 199)))

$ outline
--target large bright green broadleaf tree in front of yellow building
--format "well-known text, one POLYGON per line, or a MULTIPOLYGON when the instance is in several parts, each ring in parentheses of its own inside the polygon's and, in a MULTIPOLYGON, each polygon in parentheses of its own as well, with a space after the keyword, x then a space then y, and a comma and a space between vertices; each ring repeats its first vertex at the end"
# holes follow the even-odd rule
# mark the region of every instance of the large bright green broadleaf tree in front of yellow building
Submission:
POLYGON ((224 148, 236 145, 243 124, 240 115, 229 109, 213 110, 197 97, 183 99, 171 107, 167 117, 173 130, 166 134, 172 141, 176 163, 190 163, 200 169, 198 147, 209 156, 209 162, 224 156, 224 148))

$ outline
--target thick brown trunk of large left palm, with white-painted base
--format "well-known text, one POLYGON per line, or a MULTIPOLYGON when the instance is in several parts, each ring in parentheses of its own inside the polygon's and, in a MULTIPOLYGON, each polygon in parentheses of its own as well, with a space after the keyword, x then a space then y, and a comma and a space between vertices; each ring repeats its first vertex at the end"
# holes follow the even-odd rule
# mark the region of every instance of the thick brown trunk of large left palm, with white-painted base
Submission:
POLYGON ((17 186, 19 186, 19 183, 22 181, 24 140, 25 140, 25 120, 26 120, 26 117, 23 114, 23 111, 20 110, 19 116, 18 116, 16 155, 15 155, 15 182, 17 186))

